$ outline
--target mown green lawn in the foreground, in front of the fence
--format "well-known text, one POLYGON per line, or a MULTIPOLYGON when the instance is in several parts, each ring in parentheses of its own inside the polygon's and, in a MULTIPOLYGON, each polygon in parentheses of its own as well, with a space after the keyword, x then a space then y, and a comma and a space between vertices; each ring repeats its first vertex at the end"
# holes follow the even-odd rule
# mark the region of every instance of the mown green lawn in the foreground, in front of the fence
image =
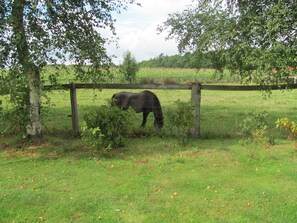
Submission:
POLYGON ((133 139, 96 152, 45 137, 1 151, 0 222, 295 222, 297 152, 133 139))

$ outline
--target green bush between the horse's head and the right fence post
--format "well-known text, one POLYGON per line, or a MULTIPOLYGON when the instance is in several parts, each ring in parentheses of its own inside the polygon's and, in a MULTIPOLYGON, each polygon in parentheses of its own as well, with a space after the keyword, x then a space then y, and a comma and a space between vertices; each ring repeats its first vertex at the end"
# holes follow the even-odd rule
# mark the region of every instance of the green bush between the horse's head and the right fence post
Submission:
POLYGON ((194 126, 193 107, 190 102, 175 101, 175 106, 166 112, 167 127, 170 133, 182 144, 186 145, 194 126))

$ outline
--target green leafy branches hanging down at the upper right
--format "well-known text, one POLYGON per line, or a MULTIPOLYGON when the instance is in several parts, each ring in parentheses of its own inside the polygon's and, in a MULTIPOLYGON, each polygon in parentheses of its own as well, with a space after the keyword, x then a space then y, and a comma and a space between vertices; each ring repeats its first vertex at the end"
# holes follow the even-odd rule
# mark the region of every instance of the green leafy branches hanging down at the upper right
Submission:
POLYGON ((279 84, 296 74, 297 4, 286 0, 197 0, 170 14, 159 31, 178 42, 180 52, 211 55, 218 70, 231 69, 243 81, 279 84))

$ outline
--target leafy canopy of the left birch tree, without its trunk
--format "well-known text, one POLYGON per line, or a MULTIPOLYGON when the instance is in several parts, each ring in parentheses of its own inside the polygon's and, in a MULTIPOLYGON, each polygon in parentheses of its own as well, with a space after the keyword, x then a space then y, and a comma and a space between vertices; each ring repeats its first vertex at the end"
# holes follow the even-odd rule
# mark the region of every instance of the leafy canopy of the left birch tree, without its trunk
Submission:
MULTIPOLYGON (((24 10, 29 60, 42 68, 46 64, 76 64, 80 79, 100 80, 110 65, 104 44, 109 40, 104 29, 115 33, 112 12, 126 9, 134 0, 19 0, 24 10), (91 65, 82 69, 83 65, 91 65), (96 77, 96 78, 95 78, 96 77)), ((13 30, 11 0, 0 3, 0 65, 2 68, 23 66, 17 52, 17 33, 13 30)), ((16 11, 16 10, 15 10, 16 11)), ((24 53, 24 52, 23 52, 24 53)), ((24 55, 21 55, 23 57, 24 55)))

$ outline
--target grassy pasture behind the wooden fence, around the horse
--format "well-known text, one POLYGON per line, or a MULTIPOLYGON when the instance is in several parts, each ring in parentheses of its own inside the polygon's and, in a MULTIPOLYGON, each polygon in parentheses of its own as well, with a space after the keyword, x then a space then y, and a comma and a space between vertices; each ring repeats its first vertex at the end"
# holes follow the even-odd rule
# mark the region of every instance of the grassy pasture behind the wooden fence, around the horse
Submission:
MULTIPOLYGON (((80 123, 83 116, 90 110, 98 109, 106 104, 114 93, 121 90, 77 90, 78 112, 80 123)), ((131 90, 139 92, 140 90, 131 90)), ((189 101, 189 90, 152 90, 160 99, 163 113, 174 105, 177 100, 189 101)), ((46 129, 70 129, 71 114, 68 91, 50 93, 51 103, 45 115, 46 129)), ((275 131, 275 122, 278 118, 288 117, 296 119, 297 90, 273 91, 270 97, 265 97, 257 91, 202 91, 201 96, 201 132, 202 138, 237 138, 238 126, 250 111, 267 113, 271 134, 275 131)), ((137 114, 135 125, 140 125, 142 114, 137 114)), ((148 117, 148 126, 152 126, 153 115, 148 117), (151 120, 151 121, 150 121, 151 120)))

